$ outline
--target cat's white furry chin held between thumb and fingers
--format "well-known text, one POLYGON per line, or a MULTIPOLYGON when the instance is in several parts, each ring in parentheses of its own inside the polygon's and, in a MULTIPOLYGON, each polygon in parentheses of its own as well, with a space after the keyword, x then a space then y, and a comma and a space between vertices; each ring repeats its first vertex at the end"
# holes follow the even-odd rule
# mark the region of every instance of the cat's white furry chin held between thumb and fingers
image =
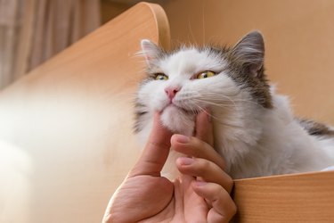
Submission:
POLYGON ((195 115, 177 108, 174 105, 167 106, 162 111, 161 121, 172 132, 191 136, 195 126, 195 115))

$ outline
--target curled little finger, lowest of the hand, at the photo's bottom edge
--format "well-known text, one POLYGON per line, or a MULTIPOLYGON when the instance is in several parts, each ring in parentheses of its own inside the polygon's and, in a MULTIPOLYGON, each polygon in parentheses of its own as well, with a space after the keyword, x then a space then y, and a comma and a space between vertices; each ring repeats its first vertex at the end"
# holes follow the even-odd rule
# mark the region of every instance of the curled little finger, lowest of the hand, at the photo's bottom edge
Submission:
POLYGON ((237 212, 230 194, 215 183, 193 181, 192 188, 203 197, 212 208, 208 211, 208 222, 229 222, 237 212))

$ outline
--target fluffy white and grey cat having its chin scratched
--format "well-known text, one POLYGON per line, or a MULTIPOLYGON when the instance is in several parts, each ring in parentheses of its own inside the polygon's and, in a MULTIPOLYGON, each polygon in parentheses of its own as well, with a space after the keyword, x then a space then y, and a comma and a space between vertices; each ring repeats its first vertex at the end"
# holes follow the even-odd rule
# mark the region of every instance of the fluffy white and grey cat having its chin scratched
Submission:
POLYGON ((289 98, 269 85, 260 32, 249 32, 233 47, 182 46, 167 52, 150 40, 141 45, 147 78, 136 97, 135 132, 143 141, 155 111, 174 133, 191 136, 196 114, 209 108, 214 147, 234 179, 334 164, 334 128, 294 118, 289 98))

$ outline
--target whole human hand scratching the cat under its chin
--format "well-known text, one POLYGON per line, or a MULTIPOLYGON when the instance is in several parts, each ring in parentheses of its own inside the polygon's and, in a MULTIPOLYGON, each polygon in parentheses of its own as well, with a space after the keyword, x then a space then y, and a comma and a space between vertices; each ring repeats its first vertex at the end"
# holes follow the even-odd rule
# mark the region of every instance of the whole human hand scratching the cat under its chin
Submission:
POLYGON ((194 137, 172 136, 156 114, 142 156, 111 197, 103 222, 228 222, 236 212, 232 178, 213 143, 205 112, 194 137), (170 147, 186 155, 176 161, 181 175, 174 182, 160 176, 170 147))

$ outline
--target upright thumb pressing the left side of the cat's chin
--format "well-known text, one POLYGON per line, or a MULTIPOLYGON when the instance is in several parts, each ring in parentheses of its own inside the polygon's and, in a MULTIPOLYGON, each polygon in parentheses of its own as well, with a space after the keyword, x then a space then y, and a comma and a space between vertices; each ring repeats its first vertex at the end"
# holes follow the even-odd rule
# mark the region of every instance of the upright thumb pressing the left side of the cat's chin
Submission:
POLYGON ((172 133, 162 125, 160 115, 157 112, 154 115, 153 128, 149 140, 143 149, 141 157, 134 165, 134 168, 131 169, 129 176, 160 176, 160 171, 167 161, 171 136, 172 133))

